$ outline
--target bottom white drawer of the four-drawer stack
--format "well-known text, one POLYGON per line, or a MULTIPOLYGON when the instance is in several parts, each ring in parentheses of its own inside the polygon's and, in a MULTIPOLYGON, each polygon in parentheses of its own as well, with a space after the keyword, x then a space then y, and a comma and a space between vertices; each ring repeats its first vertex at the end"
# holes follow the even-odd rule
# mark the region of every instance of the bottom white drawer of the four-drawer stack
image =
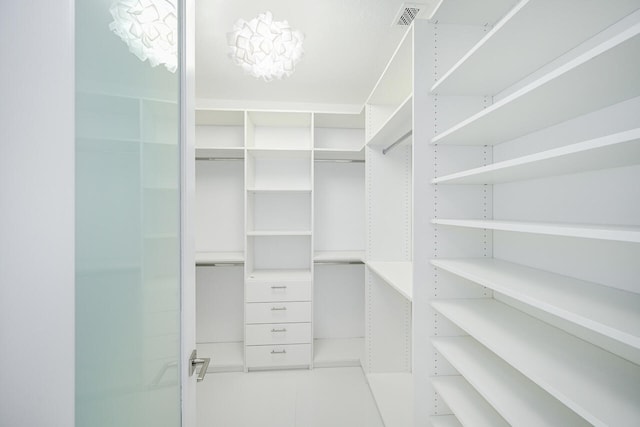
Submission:
POLYGON ((247 368, 283 368, 311 365, 311 344, 247 346, 247 368))

